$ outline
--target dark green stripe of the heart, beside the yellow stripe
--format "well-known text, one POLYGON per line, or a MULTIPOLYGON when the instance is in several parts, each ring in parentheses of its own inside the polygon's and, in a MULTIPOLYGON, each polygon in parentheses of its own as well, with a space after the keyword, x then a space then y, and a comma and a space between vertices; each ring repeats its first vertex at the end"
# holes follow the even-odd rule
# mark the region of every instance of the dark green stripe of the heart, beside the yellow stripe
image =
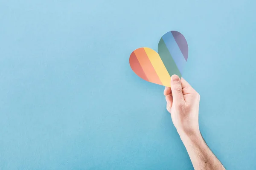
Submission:
POLYGON ((158 54, 160 55, 160 58, 162 59, 169 75, 172 76, 173 74, 176 74, 177 76, 181 77, 180 71, 177 68, 172 55, 169 53, 169 50, 162 38, 158 43, 158 54))

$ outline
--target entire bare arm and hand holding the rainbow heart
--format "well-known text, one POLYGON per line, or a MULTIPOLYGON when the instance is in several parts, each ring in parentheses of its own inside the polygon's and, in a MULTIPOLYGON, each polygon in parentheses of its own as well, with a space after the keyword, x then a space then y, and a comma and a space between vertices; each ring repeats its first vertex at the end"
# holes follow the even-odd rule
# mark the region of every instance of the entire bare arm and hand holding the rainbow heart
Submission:
POLYGON ((186 147, 195 170, 225 170, 201 136, 198 123, 200 95, 177 75, 171 77, 171 88, 164 90, 167 111, 186 147))

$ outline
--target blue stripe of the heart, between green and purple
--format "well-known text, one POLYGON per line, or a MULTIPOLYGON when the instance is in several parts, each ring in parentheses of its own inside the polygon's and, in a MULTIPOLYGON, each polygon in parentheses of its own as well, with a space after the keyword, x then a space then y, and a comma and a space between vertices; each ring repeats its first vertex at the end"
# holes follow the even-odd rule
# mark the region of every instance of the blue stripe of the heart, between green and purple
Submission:
POLYGON ((183 57, 183 54, 181 53, 180 48, 177 45, 177 42, 175 41, 172 35, 172 32, 171 31, 167 32, 166 34, 163 35, 162 38, 175 64, 177 65, 177 68, 179 69, 180 74, 182 74, 183 68, 185 68, 185 65, 186 65, 186 60, 183 57))

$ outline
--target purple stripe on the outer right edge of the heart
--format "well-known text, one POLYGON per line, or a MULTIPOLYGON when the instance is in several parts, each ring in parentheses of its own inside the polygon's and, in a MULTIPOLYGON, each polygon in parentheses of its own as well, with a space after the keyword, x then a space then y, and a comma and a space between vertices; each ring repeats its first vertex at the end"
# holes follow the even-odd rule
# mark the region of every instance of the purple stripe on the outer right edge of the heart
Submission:
POLYGON ((185 37, 178 31, 171 31, 171 32, 172 32, 172 36, 174 37, 175 41, 177 42, 177 45, 180 48, 181 53, 183 54, 184 58, 187 61, 188 55, 189 55, 189 47, 188 47, 188 43, 186 42, 185 37))

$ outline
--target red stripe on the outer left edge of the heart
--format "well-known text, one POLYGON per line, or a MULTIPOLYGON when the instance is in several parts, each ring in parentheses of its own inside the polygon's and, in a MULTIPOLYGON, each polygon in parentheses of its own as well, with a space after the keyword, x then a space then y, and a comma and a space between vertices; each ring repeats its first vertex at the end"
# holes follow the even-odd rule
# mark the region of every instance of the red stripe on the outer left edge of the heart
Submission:
POLYGON ((140 78, 145 79, 146 81, 148 81, 148 78, 145 75, 145 73, 144 73, 144 71, 143 71, 143 69, 140 65, 140 62, 138 61, 134 52, 131 53, 129 63, 130 63, 131 69, 134 71, 134 73, 136 73, 140 78))

